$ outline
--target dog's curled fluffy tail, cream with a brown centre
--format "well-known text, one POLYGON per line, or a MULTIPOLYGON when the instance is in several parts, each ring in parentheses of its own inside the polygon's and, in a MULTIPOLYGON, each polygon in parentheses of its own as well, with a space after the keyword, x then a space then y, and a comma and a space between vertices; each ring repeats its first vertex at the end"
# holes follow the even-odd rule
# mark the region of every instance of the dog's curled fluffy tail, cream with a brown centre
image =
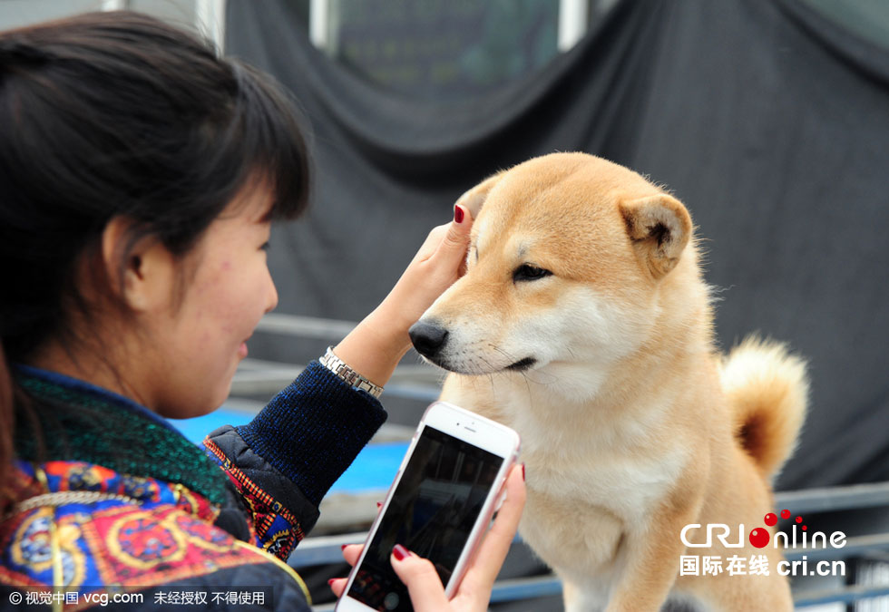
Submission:
POLYGON ((735 437, 772 480, 796 448, 806 418, 806 362, 786 345, 747 337, 722 363, 735 437))

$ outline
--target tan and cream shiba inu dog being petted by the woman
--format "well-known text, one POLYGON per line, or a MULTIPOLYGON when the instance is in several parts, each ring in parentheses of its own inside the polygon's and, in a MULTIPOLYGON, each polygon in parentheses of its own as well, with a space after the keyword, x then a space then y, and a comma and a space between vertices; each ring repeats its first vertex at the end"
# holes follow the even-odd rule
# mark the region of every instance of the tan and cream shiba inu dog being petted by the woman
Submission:
POLYGON ((411 337, 453 373, 442 399, 522 435, 521 534, 565 608, 792 609, 781 550, 748 535, 768 529, 805 364, 755 339, 718 355, 688 210, 583 153, 526 161, 458 203, 475 219, 467 272, 411 337), (686 545, 709 525, 731 535, 686 545), (720 570, 686 574, 691 555, 720 570), (730 573, 733 557, 751 571, 730 573))

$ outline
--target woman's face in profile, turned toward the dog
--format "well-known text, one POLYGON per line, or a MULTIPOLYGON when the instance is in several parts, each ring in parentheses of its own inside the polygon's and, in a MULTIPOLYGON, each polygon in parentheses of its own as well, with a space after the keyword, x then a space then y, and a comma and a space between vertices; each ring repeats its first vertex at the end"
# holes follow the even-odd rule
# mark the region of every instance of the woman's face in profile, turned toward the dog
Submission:
POLYGON ((228 397, 245 344, 278 292, 266 248, 271 223, 267 189, 247 189, 177 261, 183 289, 171 307, 147 321, 142 369, 145 400, 171 418, 210 413, 228 397))

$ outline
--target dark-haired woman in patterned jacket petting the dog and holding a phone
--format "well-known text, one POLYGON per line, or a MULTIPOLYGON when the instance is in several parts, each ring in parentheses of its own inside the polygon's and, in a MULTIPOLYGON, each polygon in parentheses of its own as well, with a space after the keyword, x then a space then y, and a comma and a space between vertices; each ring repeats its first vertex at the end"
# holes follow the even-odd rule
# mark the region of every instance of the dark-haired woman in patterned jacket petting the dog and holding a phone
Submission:
MULTIPOLYGON (((24 588, 54 607, 62 592, 89 607, 91 593, 129 588, 153 595, 149 609, 170 603, 159 594, 172 585, 261 585, 268 599, 191 605, 308 608, 284 560, 385 420, 376 396, 409 325, 458 277, 472 219, 455 209, 346 339, 251 423, 199 449, 161 417, 208 413, 228 395, 278 299, 271 221, 296 218, 307 194, 287 97, 190 34, 125 12, 0 34, 0 340, 11 371, 0 374, 11 391, 0 396, 0 605, 24 588)), ((523 495, 513 471, 450 602, 428 561, 392 556, 415 609, 486 607, 523 495)), ((344 556, 354 562, 357 547, 344 556)), ((343 587, 332 581, 337 595, 343 587)))

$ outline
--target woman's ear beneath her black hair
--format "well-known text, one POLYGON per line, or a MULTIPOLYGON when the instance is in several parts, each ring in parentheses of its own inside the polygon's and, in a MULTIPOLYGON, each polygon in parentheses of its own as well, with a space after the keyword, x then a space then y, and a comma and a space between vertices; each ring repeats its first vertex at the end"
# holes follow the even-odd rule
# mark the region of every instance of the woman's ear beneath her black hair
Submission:
POLYGON ((118 216, 102 233, 102 261, 112 292, 136 312, 170 305, 176 258, 154 236, 133 239, 133 223, 118 216))

